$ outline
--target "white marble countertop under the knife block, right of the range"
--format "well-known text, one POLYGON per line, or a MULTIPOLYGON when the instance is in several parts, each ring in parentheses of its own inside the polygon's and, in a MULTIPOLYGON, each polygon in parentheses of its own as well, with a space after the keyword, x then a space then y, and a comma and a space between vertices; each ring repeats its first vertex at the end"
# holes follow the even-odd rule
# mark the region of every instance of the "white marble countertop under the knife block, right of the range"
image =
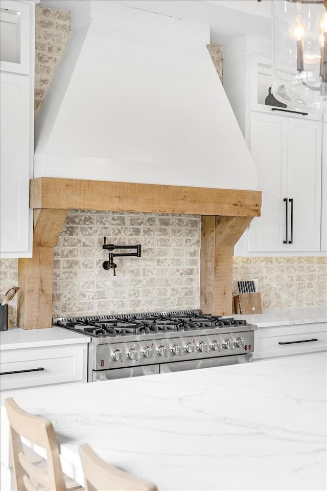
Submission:
POLYGON ((246 319, 248 324, 260 327, 285 326, 295 324, 312 324, 327 322, 327 305, 317 307, 290 307, 267 310, 263 314, 244 316, 233 314, 235 319, 246 319))

